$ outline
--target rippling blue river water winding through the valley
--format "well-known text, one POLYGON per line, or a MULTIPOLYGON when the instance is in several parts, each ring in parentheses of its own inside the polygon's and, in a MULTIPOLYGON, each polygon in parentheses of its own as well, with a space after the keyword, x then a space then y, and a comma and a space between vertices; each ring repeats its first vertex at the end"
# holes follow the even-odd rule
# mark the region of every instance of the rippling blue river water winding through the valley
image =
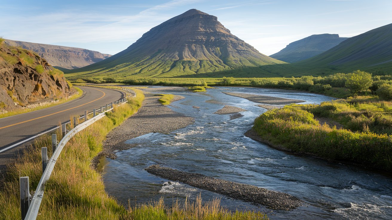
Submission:
POLYGON ((171 205, 173 200, 186 197, 192 200, 201 193, 203 200, 218 197, 230 210, 263 211, 272 220, 392 219, 390 176, 293 155, 247 138, 243 134, 266 110, 222 92, 254 93, 316 104, 332 99, 311 93, 248 87, 218 87, 205 93, 167 91, 185 96, 169 107, 194 117, 195 123, 169 134, 150 133, 127 140, 126 143, 136 147, 117 152, 117 159, 107 159, 105 164, 103 180, 109 195, 125 205, 160 197, 171 205), (247 111, 234 120, 229 115, 213 114, 223 105, 247 111), (305 204, 292 211, 273 211, 151 175, 144 168, 152 164, 289 193, 305 204))

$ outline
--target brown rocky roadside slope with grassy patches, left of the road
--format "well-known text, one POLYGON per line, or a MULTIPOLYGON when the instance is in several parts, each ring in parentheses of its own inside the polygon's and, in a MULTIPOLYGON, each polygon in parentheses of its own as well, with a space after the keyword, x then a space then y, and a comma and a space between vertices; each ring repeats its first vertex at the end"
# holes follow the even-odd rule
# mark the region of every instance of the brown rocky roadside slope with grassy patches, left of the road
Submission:
POLYGON ((34 52, 0 42, 0 111, 69 96, 63 75, 34 52))

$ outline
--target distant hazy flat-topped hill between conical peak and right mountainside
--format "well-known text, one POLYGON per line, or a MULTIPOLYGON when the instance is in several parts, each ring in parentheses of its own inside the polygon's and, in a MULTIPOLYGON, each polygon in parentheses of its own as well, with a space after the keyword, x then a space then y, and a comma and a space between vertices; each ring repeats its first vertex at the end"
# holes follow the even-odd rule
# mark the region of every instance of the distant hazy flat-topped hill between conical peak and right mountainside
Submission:
POLYGON ((270 57, 287 63, 294 63, 319 55, 347 39, 347 37, 339 37, 336 34, 312 35, 290 43, 278 53, 270 55, 270 57))

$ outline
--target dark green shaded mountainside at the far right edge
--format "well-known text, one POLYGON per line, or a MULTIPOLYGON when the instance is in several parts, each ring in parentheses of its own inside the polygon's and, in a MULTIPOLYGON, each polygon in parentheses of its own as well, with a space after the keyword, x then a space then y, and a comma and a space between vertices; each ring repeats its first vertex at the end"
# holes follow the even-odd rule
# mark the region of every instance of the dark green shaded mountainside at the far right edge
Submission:
POLYGON ((298 65, 352 71, 392 72, 392 24, 354 36, 298 65))

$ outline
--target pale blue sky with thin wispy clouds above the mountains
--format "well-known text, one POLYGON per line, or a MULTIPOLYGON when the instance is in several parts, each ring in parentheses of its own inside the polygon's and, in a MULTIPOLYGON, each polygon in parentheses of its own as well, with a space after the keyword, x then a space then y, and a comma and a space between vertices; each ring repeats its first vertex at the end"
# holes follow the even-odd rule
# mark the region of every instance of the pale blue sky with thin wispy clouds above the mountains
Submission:
POLYGON ((0 36, 114 55, 192 8, 265 55, 310 35, 352 37, 392 23, 391 0, 2 0, 0 36))

